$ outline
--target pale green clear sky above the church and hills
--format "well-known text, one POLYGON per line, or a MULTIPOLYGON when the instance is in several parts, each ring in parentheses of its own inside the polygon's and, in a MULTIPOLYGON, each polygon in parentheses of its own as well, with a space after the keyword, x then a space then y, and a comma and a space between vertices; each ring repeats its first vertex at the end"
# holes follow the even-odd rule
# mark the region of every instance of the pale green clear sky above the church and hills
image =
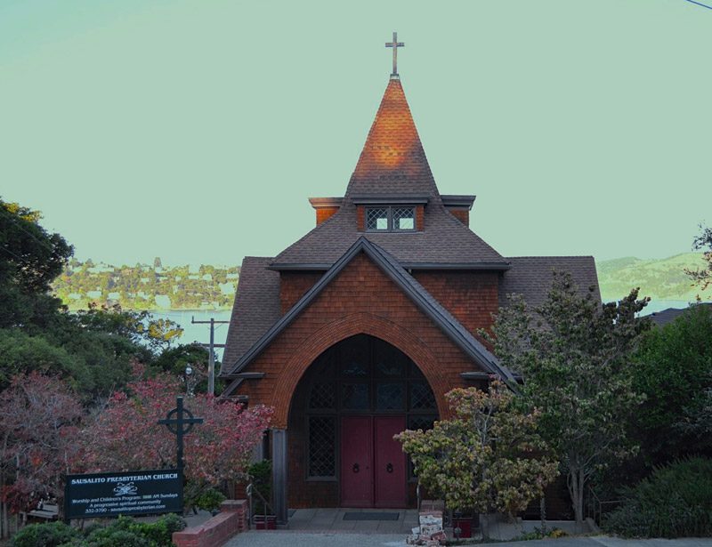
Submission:
POLYGON ((79 258, 239 263, 343 195, 399 71, 506 256, 662 257, 712 222, 712 10, 684 0, 0 0, 0 196, 79 258))

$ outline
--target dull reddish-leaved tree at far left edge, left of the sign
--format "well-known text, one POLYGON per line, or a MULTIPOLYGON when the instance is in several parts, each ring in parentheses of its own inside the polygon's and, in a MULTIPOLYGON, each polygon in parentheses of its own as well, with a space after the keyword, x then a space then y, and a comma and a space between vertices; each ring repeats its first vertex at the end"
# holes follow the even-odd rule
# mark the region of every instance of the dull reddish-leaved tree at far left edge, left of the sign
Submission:
POLYGON ((61 475, 78 456, 83 411, 58 378, 20 374, 0 392, 0 535, 9 513, 30 511, 43 499, 61 499, 61 475))

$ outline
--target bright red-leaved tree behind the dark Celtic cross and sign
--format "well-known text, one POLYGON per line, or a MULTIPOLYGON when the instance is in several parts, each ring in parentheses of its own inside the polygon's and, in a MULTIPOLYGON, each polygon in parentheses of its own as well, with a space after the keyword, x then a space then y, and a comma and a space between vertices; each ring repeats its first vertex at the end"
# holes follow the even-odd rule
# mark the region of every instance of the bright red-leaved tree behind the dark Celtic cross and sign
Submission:
MULTIPOLYGON (((140 376, 142 371, 136 372, 140 376)), ((157 422, 174 408, 181 392, 176 378, 159 374, 130 382, 127 392, 114 393, 82 431, 82 471, 174 467, 175 436, 157 422)), ((208 394, 187 398, 185 406, 204 419, 184 438, 190 495, 223 481, 245 479, 253 450, 269 427, 272 409, 236 405, 208 394)))

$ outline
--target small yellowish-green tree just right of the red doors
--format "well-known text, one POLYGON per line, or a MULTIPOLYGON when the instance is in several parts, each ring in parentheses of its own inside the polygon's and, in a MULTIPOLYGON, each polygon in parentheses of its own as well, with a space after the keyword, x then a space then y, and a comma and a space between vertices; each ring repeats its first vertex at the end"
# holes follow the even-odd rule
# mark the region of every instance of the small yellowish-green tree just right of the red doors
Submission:
POLYGON ((395 437, 428 491, 451 508, 510 515, 541 497, 558 463, 538 434, 538 410, 522 411, 498 381, 487 392, 455 389, 446 398, 452 419, 395 437))

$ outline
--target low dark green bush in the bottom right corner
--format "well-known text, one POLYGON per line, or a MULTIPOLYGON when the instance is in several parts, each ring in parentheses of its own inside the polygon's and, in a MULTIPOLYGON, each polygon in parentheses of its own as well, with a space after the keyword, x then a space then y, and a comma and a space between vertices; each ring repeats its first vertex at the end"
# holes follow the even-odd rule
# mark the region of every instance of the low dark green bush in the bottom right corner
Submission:
POLYGON ((671 463, 621 494, 622 505, 603 522, 607 532, 624 537, 712 535, 712 460, 671 463))

